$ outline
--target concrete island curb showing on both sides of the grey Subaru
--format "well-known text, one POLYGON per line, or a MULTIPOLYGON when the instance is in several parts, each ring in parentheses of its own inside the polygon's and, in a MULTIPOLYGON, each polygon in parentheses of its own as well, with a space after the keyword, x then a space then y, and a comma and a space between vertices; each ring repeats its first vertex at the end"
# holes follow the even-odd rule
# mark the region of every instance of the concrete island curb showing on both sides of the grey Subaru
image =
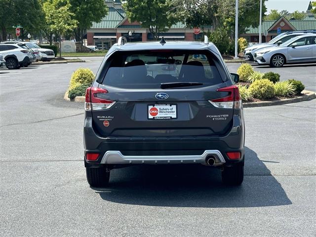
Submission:
MULTIPOLYGON (((282 99, 282 100, 275 100, 275 101, 261 101, 261 102, 245 102, 243 103, 243 108, 250 108, 250 107, 262 107, 262 106, 274 106, 274 105, 285 105, 290 103, 297 103, 307 100, 313 100, 316 98, 316 94, 313 91, 303 90, 302 93, 304 95, 298 96, 295 98, 289 99, 282 99)), ((68 98, 68 91, 66 91, 64 95, 64 100, 67 101, 75 101, 75 102, 85 102, 84 96, 76 96, 75 99, 71 100, 68 98)))

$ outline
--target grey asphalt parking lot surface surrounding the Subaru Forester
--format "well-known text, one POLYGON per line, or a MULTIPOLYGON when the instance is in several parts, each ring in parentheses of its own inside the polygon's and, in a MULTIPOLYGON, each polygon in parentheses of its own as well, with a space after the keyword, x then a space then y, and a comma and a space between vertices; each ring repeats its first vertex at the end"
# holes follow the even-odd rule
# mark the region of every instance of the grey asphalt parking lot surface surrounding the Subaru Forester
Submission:
MULTIPOLYGON (((154 165, 114 170, 109 188, 92 189, 83 105, 63 100, 72 72, 96 72, 101 58, 88 61, 0 69, 0 236, 315 236, 316 100, 244 109, 240 187, 206 166, 154 165)), ((316 91, 315 66, 277 70, 316 91)))

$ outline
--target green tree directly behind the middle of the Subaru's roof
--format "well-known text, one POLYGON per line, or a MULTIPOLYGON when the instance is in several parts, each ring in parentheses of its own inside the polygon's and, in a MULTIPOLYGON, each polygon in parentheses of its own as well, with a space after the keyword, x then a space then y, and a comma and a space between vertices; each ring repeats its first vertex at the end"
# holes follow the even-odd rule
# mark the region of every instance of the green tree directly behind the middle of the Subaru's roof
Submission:
POLYGON ((126 0, 123 3, 130 22, 138 21, 143 28, 148 28, 155 40, 161 32, 166 32, 175 23, 168 0, 126 0))

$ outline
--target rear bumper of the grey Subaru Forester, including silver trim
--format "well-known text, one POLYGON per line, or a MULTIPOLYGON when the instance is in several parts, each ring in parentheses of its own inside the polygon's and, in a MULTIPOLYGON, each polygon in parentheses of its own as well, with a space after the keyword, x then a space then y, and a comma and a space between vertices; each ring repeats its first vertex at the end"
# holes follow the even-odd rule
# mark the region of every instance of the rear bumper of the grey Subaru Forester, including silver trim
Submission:
POLYGON ((107 164, 201 163, 214 156, 220 165, 243 162, 244 122, 234 115, 233 126, 225 136, 182 137, 101 137, 93 129, 92 118, 84 122, 84 161, 86 167, 107 164), (230 160, 227 152, 240 152, 241 159, 230 160), (87 153, 100 154, 96 161, 86 160, 87 153))

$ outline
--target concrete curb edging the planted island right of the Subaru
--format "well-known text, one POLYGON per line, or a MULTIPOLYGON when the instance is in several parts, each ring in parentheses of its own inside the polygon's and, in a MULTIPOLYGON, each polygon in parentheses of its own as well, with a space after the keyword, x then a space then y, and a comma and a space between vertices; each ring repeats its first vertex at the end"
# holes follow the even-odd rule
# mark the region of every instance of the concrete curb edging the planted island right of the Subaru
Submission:
POLYGON ((282 99, 282 100, 275 100, 275 101, 248 102, 248 103, 245 102, 243 103, 243 107, 250 108, 250 107, 285 105, 285 104, 297 103, 297 102, 302 102, 302 101, 307 101, 307 100, 313 100, 316 98, 316 94, 313 91, 303 90, 302 93, 304 93, 304 95, 298 96, 295 98, 289 98, 289 99, 282 99))

